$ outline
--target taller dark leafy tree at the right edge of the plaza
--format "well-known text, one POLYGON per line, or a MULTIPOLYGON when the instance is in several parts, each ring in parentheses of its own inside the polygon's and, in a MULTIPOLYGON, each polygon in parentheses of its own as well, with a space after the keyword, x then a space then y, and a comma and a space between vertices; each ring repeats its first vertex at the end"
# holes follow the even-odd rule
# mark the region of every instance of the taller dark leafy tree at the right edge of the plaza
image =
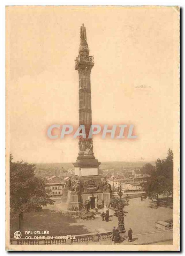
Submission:
POLYGON ((144 184, 147 195, 157 200, 159 206, 159 195, 173 195, 173 152, 168 149, 165 159, 157 159, 156 166, 150 173, 150 179, 144 184))

